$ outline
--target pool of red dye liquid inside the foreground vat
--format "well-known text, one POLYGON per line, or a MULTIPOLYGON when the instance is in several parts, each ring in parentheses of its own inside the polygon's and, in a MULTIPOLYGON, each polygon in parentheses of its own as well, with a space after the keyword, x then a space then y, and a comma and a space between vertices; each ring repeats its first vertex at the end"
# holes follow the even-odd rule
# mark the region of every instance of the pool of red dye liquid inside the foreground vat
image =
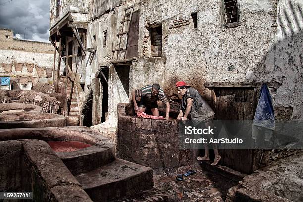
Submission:
POLYGON ((73 152, 91 146, 77 141, 47 141, 47 143, 55 152, 73 152))

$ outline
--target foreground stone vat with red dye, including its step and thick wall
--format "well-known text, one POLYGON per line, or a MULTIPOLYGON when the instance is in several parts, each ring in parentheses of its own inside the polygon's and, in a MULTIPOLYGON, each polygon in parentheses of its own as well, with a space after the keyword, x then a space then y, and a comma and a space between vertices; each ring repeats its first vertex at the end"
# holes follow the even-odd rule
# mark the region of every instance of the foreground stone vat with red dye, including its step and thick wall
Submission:
POLYGON ((0 130, 2 158, 0 190, 30 190, 35 201, 103 202, 153 187, 151 168, 115 158, 113 141, 85 126, 0 130))

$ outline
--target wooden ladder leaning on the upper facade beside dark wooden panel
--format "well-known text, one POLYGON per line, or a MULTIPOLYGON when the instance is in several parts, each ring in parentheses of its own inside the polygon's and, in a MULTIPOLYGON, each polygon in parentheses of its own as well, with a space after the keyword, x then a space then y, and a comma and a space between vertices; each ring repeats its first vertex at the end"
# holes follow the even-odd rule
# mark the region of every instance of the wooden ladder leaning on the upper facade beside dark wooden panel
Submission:
POLYGON ((136 0, 134 0, 133 5, 124 8, 124 16, 123 16, 123 20, 120 22, 121 23, 121 28, 120 28, 120 32, 117 34, 118 40, 117 40, 117 43, 115 44, 115 46, 116 46, 115 49, 112 50, 111 60, 114 59, 115 53, 116 53, 116 59, 115 60, 125 59, 128 33, 129 33, 131 19, 132 19, 133 12, 134 12, 135 2, 136 2, 136 0), (128 10, 130 10, 130 9, 131 9, 130 16, 129 16, 129 18, 126 18, 127 14, 129 13, 128 10), (124 30, 124 23, 125 22, 128 22, 126 30, 124 30), (123 58, 121 58, 122 53, 124 53, 123 58))

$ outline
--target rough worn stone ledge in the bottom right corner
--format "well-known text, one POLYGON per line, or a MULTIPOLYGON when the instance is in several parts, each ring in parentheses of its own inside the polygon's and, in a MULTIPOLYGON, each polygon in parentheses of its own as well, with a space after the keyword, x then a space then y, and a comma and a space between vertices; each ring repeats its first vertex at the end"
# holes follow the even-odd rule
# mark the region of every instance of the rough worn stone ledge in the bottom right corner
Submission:
POLYGON ((303 153, 255 171, 228 190, 226 202, 290 202, 303 198, 303 153))

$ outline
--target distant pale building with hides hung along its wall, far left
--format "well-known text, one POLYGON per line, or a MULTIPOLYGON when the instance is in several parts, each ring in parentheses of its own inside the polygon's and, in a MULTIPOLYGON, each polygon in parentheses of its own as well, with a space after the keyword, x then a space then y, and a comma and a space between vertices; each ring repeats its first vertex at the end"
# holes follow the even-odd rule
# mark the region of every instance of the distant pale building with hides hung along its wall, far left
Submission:
POLYGON ((19 40, 13 30, 2 28, 0 42, 0 76, 11 80, 10 85, 1 85, 1 89, 29 90, 36 82, 52 84, 54 48, 51 43, 19 40), (5 70, 4 66, 11 69, 5 70))

